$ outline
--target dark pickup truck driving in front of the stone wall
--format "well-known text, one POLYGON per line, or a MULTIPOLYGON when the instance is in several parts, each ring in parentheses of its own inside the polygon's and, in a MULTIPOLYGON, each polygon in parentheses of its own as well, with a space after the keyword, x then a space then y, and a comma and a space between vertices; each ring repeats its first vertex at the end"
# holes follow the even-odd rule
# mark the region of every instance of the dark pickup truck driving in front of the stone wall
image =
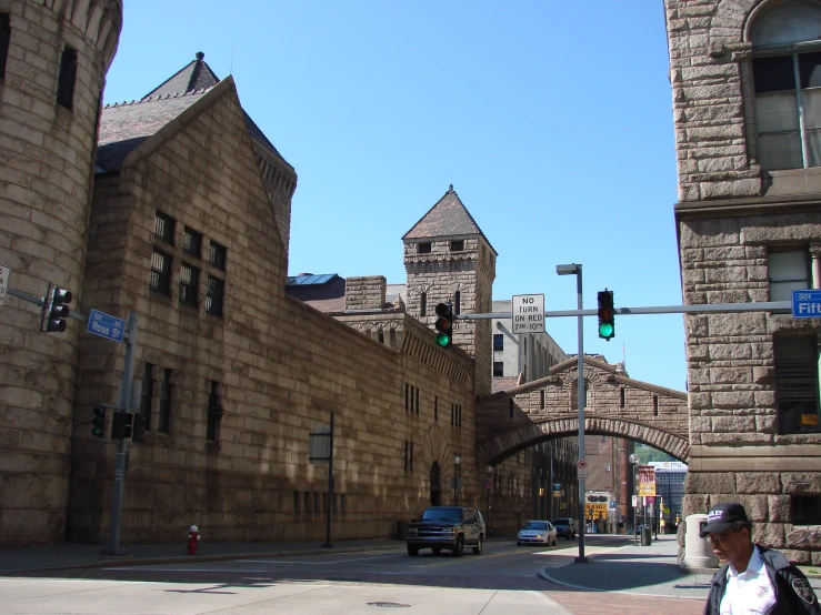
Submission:
POLYGON ((485 534, 484 520, 477 508, 431 506, 408 524, 408 555, 419 555, 420 548, 430 548, 439 555, 447 548, 461 557, 465 546, 471 546, 479 555, 485 534))

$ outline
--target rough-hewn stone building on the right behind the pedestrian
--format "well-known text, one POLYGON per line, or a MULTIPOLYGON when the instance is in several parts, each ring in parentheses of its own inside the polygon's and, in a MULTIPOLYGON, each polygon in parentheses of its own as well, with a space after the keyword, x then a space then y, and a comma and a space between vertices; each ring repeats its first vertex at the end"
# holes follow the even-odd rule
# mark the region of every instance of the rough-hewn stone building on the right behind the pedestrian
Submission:
MULTIPOLYGON (((821 3, 665 0, 684 302, 821 288, 821 3)), ((684 514, 747 505, 755 540, 821 563, 819 319, 688 315, 684 514)))

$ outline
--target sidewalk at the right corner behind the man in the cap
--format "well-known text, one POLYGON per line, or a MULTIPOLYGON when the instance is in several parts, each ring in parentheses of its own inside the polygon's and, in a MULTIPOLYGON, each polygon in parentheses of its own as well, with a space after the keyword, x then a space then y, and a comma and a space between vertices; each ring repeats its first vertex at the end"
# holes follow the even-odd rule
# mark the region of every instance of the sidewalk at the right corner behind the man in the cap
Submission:
MULTIPOLYGON (((674 535, 659 535, 650 546, 634 545, 630 541, 623 546, 588 557, 585 564, 544 568, 540 576, 565 587, 592 592, 707 599, 712 576, 718 568, 684 572, 679 566, 678 553, 674 535)), ((810 585, 819 594, 821 579, 817 575, 810 577, 810 585)))

